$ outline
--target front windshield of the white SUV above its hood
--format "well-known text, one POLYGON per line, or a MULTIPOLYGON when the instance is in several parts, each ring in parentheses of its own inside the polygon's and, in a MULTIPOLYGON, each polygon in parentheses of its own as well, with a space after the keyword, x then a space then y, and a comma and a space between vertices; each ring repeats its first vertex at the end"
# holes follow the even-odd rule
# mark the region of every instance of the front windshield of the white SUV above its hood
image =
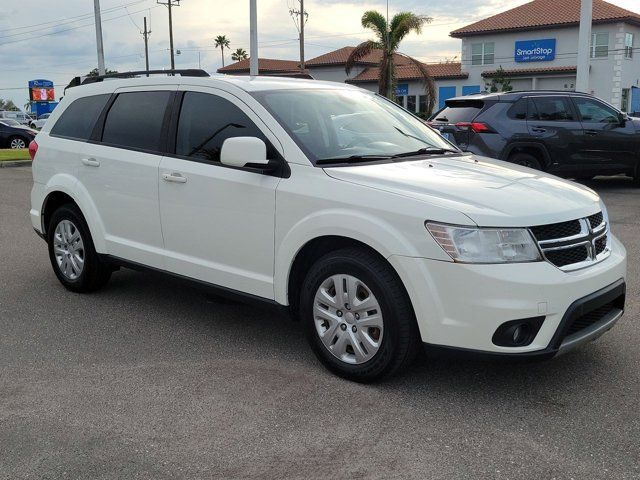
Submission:
POLYGON ((365 91, 272 90, 254 96, 314 163, 455 150, 420 119, 365 91))

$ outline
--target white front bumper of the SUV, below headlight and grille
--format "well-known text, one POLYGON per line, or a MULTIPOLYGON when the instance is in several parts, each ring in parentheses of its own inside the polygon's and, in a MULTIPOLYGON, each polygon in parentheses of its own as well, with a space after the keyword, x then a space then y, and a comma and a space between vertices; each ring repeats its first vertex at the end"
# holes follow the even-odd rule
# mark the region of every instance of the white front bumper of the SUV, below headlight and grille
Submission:
POLYGON ((400 256, 389 260, 407 288, 422 341, 432 346, 548 357, 597 338, 622 315, 620 308, 579 332, 567 335, 563 330, 576 315, 599 307, 600 301, 607 303, 609 291, 624 296, 626 251, 615 237, 607 259, 574 272, 548 262, 469 265, 400 256), (543 324, 529 345, 492 342, 504 322, 540 316, 543 324))

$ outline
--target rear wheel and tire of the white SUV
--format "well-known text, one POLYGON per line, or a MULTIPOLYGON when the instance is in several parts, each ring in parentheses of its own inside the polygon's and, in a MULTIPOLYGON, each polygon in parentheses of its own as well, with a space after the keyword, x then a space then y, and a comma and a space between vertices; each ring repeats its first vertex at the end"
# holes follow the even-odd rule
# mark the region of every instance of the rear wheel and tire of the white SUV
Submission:
POLYGON ((77 206, 66 204, 53 213, 47 243, 53 271, 67 290, 93 292, 109 281, 112 268, 98 257, 87 222, 77 206))

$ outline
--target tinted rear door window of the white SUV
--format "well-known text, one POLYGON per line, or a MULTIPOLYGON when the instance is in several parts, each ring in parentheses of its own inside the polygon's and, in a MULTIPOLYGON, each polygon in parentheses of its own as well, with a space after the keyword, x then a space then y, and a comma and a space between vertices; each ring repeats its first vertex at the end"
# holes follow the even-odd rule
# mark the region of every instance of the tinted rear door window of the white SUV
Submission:
POLYGON ((109 109, 102 141, 120 147, 160 151, 162 123, 171 92, 121 93, 109 109))

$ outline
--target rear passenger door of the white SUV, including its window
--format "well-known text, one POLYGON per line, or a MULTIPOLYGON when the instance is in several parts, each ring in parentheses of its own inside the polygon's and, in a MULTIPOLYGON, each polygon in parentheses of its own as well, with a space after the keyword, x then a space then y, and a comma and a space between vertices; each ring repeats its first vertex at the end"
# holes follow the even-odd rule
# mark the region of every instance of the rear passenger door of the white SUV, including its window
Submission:
POLYGON ((116 90, 78 167, 104 227, 107 253, 156 268, 164 268, 158 168, 175 88, 116 90))

